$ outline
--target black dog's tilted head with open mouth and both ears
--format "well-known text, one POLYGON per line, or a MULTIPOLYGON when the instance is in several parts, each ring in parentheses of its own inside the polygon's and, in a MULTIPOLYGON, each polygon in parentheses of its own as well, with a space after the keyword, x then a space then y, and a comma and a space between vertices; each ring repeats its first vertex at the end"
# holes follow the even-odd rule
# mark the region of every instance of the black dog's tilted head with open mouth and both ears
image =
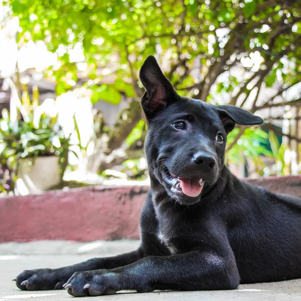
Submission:
POLYGON ((148 121, 145 153, 150 178, 178 203, 197 203, 203 189, 218 180, 227 134, 236 123, 263 120, 235 106, 179 96, 153 56, 143 63, 140 79, 146 89, 141 105, 148 121))

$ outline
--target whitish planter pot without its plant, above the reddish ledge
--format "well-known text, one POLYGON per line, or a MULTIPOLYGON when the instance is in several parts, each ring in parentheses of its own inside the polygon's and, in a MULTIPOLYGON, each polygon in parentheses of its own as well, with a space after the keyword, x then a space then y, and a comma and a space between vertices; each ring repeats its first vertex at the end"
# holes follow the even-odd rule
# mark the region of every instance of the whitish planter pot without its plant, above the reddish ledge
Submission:
POLYGON ((40 193, 60 183, 59 157, 37 157, 28 168, 29 161, 31 160, 18 160, 16 189, 19 195, 40 193))

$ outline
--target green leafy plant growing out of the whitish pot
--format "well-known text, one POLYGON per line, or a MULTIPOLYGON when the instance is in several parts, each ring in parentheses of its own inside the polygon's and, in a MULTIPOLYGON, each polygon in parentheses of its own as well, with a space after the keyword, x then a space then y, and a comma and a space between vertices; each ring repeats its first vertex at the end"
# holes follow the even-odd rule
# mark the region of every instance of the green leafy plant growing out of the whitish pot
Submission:
MULTIPOLYGON (((39 104, 39 93, 34 88, 32 100, 28 91, 24 91, 20 105, 16 112, 9 113, 7 109, 2 111, 0 120, 0 164, 14 175, 16 180, 18 159, 29 159, 28 167, 34 164, 34 158, 38 156, 58 156, 63 174, 68 164, 69 137, 66 138, 57 122, 57 112, 47 112, 47 102, 39 104), (13 120, 12 115, 17 118, 13 120)), ((53 108, 52 108, 53 109, 53 108)), ((51 110, 50 110, 51 111, 51 110)), ((11 180, 11 179, 9 179, 11 180)), ((12 183, 13 184, 13 183, 12 183)), ((13 186, 3 180, 0 189, 12 190, 13 186)))

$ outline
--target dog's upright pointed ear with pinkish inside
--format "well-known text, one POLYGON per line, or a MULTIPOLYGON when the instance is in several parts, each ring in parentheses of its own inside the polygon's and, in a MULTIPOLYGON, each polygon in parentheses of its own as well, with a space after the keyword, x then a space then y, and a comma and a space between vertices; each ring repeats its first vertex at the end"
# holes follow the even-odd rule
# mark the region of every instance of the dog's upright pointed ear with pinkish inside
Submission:
POLYGON ((139 76, 146 90, 141 99, 146 118, 151 119, 179 97, 172 84, 162 73, 155 57, 147 57, 140 69, 139 76))

